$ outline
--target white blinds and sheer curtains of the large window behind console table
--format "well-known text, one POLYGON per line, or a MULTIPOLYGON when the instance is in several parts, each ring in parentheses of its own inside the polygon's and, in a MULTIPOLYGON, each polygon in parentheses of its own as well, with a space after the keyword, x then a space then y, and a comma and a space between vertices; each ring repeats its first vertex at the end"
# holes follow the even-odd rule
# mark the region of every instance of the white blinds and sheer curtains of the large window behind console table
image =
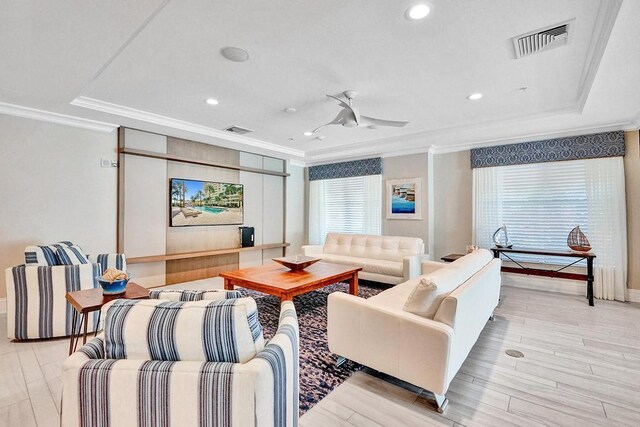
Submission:
MULTIPOLYGON (((595 297, 625 300, 627 225, 622 157, 475 168, 473 187, 475 244, 492 247, 493 232, 505 224, 514 246, 569 250, 567 235, 579 225, 596 254, 595 297)), ((514 259, 549 264, 559 261, 525 255, 514 255, 514 259)))

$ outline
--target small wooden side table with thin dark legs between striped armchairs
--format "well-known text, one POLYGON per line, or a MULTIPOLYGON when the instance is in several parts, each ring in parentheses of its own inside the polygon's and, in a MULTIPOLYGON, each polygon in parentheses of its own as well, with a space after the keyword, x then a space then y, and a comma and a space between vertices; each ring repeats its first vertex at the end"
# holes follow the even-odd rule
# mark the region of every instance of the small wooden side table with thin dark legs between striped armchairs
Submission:
MULTIPOLYGON (((127 290, 118 295, 103 295, 102 288, 83 289, 81 291, 67 292, 65 298, 75 309, 73 312, 73 321, 71 322, 71 342, 69 343, 69 355, 76 351, 78 341, 80 341, 80 327, 84 327, 82 343, 87 342, 87 323, 89 323, 89 313, 97 311, 103 305, 114 299, 147 299, 149 298, 149 290, 143 288, 137 283, 127 283, 127 290), (78 316, 80 321, 78 321, 78 316), (78 329, 76 331, 76 329, 78 329)), ((98 323, 100 324, 100 315, 98 315, 98 323)), ((97 332, 97 329, 96 329, 97 332)), ((95 334, 94 334, 95 335, 95 334)))

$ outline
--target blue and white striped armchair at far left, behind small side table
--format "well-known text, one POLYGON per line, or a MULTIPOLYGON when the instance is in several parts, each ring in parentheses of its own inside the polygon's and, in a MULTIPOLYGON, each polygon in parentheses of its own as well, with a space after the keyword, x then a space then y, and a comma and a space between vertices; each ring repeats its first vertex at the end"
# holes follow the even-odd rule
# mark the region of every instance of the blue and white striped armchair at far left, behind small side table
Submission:
MULTIPOLYGON (((98 255, 74 259, 73 265, 59 265, 56 247, 74 246, 61 242, 25 249, 26 264, 5 270, 7 287, 7 337, 15 340, 53 338, 71 335, 74 309, 65 294, 98 287, 95 277, 107 268, 127 268, 124 254, 98 255)), ((73 253, 72 253, 73 254, 73 253)), ((89 331, 95 330, 91 316, 89 331)))

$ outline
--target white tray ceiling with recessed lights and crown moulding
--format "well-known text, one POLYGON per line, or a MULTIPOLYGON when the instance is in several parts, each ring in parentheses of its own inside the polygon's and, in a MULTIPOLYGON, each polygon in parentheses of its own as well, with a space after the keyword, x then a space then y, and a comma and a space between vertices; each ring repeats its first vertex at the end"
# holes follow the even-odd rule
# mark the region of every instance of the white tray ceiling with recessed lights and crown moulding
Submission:
POLYGON ((640 124, 639 1, 428 0, 410 22, 413 3, 3 2, 0 102, 307 162, 640 124), (515 59, 511 37, 570 19, 567 46, 515 59), (303 136, 347 89, 362 114, 410 124, 303 136), (221 141, 229 125, 255 132, 221 141))

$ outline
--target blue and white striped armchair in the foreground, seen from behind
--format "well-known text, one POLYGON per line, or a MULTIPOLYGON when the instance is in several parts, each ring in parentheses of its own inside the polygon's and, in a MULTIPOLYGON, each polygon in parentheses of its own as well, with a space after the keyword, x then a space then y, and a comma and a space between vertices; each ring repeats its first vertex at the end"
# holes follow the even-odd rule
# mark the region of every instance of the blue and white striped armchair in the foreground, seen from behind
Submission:
POLYGON ((227 297, 105 306, 104 332, 64 363, 61 425, 297 426, 293 303, 265 343, 255 301, 227 297))

